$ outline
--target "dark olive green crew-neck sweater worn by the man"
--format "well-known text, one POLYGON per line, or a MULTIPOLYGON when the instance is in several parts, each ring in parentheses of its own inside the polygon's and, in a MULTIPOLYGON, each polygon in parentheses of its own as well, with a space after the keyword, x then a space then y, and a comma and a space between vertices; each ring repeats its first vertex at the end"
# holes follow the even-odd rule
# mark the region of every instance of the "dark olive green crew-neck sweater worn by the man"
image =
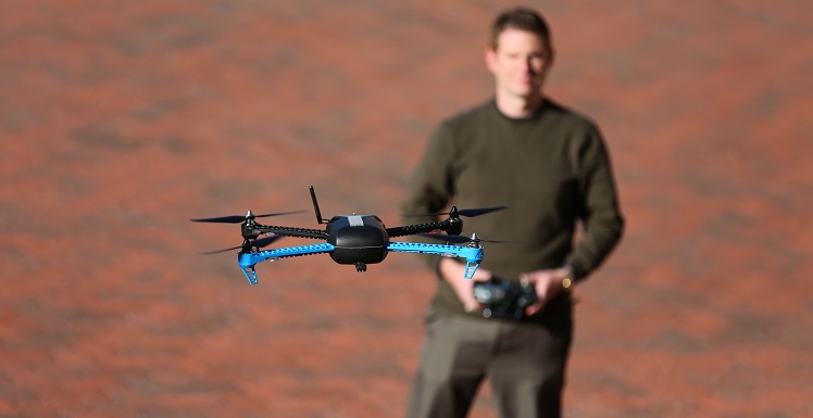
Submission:
MULTIPOLYGON (((402 211, 436 213, 451 204, 509 206, 464 218, 463 235, 517 241, 483 243, 480 267, 511 280, 565 264, 581 280, 601 265, 624 228, 601 134, 587 118, 550 100, 527 119, 504 116, 490 100, 438 127, 402 211)), ((442 280, 433 304, 462 312, 442 280)))

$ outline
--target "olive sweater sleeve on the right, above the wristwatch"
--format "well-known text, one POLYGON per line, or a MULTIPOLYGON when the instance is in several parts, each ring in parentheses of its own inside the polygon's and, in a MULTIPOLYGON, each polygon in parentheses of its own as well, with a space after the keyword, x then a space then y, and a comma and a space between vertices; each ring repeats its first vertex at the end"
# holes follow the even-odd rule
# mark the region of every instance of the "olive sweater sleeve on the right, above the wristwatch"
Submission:
POLYGON ((584 233, 566 264, 577 280, 597 269, 621 240, 624 230, 612 164, 601 134, 593 127, 590 138, 577 150, 584 233))

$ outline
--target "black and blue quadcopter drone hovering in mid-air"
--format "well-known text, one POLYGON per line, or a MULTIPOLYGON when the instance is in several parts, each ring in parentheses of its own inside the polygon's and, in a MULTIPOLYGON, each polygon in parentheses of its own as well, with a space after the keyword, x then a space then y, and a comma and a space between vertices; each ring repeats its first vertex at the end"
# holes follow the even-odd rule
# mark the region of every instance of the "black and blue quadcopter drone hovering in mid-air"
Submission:
MULTIPOLYGON (((261 225, 257 218, 288 215, 298 212, 282 212, 255 215, 248 211, 245 216, 232 215, 213 218, 189 219, 196 223, 216 224, 240 224, 242 244, 225 250, 211 251, 203 254, 215 254, 225 251, 240 250, 237 253, 237 264, 242 270, 250 284, 258 283, 255 265, 261 262, 274 262, 282 258, 297 257, 314 254, 329 254, 334 262, 343 265, 354 265, 357 271, 366 271, 367 264, 383 262, 390 252, 435 254, 443 257, 460 257, 466 262, 464 278, 471 279, 483 259, 483 246, 480 242, 500 242, 485 240, 473 233, 472 237, 462 237, 463 220, 460 218, 485 215, 506 208, 505 206, 493 206, 473 210, 458 210, 452 206, 449 212, 426 214, 420 216, 448 216, 443 220, 425 224, 399 226, 387 228, 378 216, 375 215, 338 215, 330 219, 322 218, 316 192, 310 187, 313 210, 316 221, 325 225, 324 229, 310 229, 298 227, 261 225), (446 235, 438 233, 445 231, 446 235), (261 236, 267 236, 260 238, 261 236), (446 241, 445 244, 400 242, 391 241, 391 238, 406 236, 424 236, 446 241), (268 244, 284 237, 297 237, 307 239, 324 240, 323 243, 311 245, 299 245, 279 248, 274 250, 262 250, 268 244), (465 244, 465 245, 456 245, 465 244)), ((418 215, 414 215, 418 216, 418 215)))

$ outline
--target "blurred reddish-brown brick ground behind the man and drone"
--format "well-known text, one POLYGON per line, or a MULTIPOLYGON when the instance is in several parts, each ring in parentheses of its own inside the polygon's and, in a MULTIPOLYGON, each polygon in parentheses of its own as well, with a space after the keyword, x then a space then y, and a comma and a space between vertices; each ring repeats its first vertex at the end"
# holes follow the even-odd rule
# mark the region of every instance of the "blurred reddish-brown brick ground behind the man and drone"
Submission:
MULTIPOLYGON (((313 185, 323 215, 396 226, 435 125, 492 93, 514 4, 0 0, 0 417, 403 416, 417 256, 252 287, 197 254, 239 228, 188 219, 310 211, 313 185)), ((577 290, 565 416, 813 417, 813 7, 526 4, 628 220, 577 290)))

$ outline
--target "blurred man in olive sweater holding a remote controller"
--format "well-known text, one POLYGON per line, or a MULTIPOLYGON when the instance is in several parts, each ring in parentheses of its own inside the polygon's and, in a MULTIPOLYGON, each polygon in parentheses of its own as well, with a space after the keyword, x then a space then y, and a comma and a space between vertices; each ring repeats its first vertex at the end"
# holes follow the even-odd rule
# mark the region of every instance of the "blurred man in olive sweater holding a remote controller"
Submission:
POLYGON ((402 210, 505 205, 466 218, 463 233, 514 243, 485 243, 473 280, 458 259, 435 259, 438 289, 410 418, 465 417, 486 378, 501 417, 560 417, 570 291, 601 265, 624 227, 601 134, 542 93, 553 63, 543 18, 524 8, 500 14, 485 58, 493 99, 438 127, 402 210), (492 279, 529 283, 539 301, 521 317, 484 318, 473 286, 492 279))

